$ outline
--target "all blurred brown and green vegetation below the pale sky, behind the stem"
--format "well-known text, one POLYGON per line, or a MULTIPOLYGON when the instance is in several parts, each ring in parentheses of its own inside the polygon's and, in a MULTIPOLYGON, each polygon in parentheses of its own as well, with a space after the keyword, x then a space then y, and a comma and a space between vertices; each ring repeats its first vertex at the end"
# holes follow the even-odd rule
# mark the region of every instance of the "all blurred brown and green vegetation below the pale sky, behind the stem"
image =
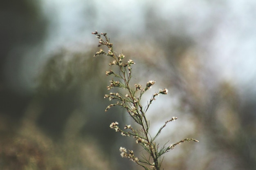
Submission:
MULTIPOLYGON (((0 8, 0 169, 137 169, 121 159, 118 150, 120 146, 136 149, 135 142, 108 128, 112 121, 130 124, 130 120, 118 114, 118 108, 104 113, 109 104, 103 99, 108 93, 104 73, 108 60, 92 57, 97 40, 88 47, 91 51, 63 49, 51 54, 36 78, 36 92, 18 93, 7 81, 7 60, 13 61, 9 76, 18 76, 28 47, 43 43, 47 20, 31 1, 10 0, 0 8)), ((123 49, 135 61, 135 81, 143 84, 154 79, 157 88, 168 88, 168 95, 179 101, 174 108, 168 108, 171 103, 158 106, 161 115, 150 113, 158 122, 179 118, 160 140, 175 143, 193 137, 200 141, 167 153, 163 168, 255 170, 255 97, 241 93, 232 81, 218 82, 204 65, 207 58, 200 55, 193 38, 171 29, 163 32, 168 26, 149 11, 146 33, 150 41, 131 38, 128 43, 115 37, 112 42, 117 52, 123 49)), ((115 36, 115 31, 109 36, 115 36)))

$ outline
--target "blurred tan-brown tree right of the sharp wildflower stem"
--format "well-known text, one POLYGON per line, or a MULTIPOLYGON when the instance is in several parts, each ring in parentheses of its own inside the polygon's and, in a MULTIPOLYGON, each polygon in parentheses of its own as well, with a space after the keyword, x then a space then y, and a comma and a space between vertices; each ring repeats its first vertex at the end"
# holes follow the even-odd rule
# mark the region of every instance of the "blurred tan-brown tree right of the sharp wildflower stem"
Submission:
MULTIPOLYGON (((168 84, 173 92, 170 94, 180 99, 180 104, 173 110, 174 113, 182 113, 180 117, 185 119, 183 124, 187 124, 187 127, 179 124, 179 129, 171 130, 170 136, 176 139, 175 131, 192 130, 191 135, 197 136, 195 138, 200 141, 197 147, 182 146, 182 149, 176 148, 177 152, 171 151, 174 154, 170 157, 167 155, 166 159, 172 161, 166 163, 165 168, 255 169, 256 154, 252 151, 256 137, 255 107, 252 107, 254 98, 241 95, 240 89, 232 81, 218 81, 218 77, 205 67, 204 62, 207 59, 198 54, 195 44, 186 40, 189 40, 186 36, 173 38, 169 35, 167 44, 159 41, 157 46, 147 44, 148 46, 132 49, 136 53, 144 50, 144 54, 152 56, 140 55, 137 60, 154 70, 155 75, 165 77, 162 83, 168 84), (152 48, 161 51, 163 55, 151 51, 152 48)), ((137 55, 136 53, 132 55, 137 55)), ((148 77, 147 74, 153 73, 143 74, 148 77)), ((161 113, 165 116, 173 114, 165 114, 164 111, 161 113)))

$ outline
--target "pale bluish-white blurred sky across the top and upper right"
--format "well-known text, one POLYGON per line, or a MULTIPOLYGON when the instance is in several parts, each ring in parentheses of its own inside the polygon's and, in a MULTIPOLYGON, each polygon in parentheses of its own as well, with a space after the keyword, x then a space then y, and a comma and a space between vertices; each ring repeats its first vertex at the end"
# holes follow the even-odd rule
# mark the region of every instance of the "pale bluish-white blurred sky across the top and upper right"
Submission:
MULTIPOLYGON (((225 0, 42 0, 42 9, 50 21, 42 51, 51 53, 63 46, 93 44, 94 30, 113 31, 130 38, 145 32, 145 9, 158 15, 169 29, 182 29, 197 43, 202 57, 218 79, 231 79, 240 87, 254 86, 256 80, 256 1, 225 0), (95 10, 96 9, 96 10, 95 10)), ((154 24, 154 23, 153 23, 154 24)), ((166 29, 166 30, 165 30, 166 29)), ((147 35, 150 40, 150 35, 147 35)), ((33 51, 32 51, 33 53, 33 51)), ((34 57, 34 53, 31 54, 34 57)), ((28 55, 29 56, 29 55, 28 55)), ((45 60, 38 56, 33 60, 45 60)), ((36 64, 27 66, 23 74, 34 74, 36 64), (31 68, 30 68, 31 67, 31 68), (31 71, 33 70, 33 71, 31 71)), ((29 78, 27 78, 29 79, 29 78)), ((25 81, 27 80, 25 78, 25 81)), ((24 80, 22 80, 24 81, 24 80)), ((28 81, 28 80, 27 80, 28 81)))

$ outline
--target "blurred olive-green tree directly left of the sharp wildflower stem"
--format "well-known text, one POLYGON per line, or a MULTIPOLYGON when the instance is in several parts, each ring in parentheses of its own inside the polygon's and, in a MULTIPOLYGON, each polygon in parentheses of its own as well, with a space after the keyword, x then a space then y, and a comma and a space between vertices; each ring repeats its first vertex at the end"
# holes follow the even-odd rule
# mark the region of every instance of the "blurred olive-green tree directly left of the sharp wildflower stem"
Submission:
POLYGON ((133 165, 121 159, 118 150, 113 153, 120 141, 108 128, 113 117, 120 122, 126 118, 118 109, 104 114, 108 106, 103 98, 108 84, 104 65, 108 64, 97 62, 93 54, 62 50, 47 60, 38 77, 37 100, 42 109, 37 123, 56 144, 67 144, 65 158, 71 160, 69 167, 78 166, 74 164, 77 161, 81 168, 101 169, 108 164, 105 168, 130 169, 133 165), (70 147, 77 150, 77 155, 70 147), (81 157, 85 154, 81 147, 94 152, 95 160, 90 160, 91 155, 81 157), (86 160, 90 161, 85 164, 86 160))

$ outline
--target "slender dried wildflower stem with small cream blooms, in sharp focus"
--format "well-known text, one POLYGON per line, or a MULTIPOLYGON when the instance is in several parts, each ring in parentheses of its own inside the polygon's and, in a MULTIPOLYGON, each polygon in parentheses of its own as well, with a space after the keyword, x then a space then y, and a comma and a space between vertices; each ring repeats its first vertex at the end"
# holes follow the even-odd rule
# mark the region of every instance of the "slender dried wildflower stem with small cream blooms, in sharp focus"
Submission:
POLYGON ((166 152, 172 150, 178 144, 181 144, 185 141, 196 141, 195 139, 184 139, 175 144, 167 143, 160 148, 159 144, 156 144, 155 139, 159 136, 162 129, 166 126, 166 124, 170 121, 174 121, 177 117, 172 117, 168 121, 164 123, 164 125, 159 128, 156 135, 152 136, 149 133, 149 121, 146 117, 146 112, 152 102, 155 100, 155 97, 163 94, 166 95, 168 90, 164 88, 164 90, 159 90, 159 92, 155 92, 151 99, 149 100, 147 106, 143 107, 141 105, 141 97, 142 95, 148 91, 151 86, 155 84, 155 81, 150 80, 146 83, 146 86, 143 88, 140 84, 131 84, 130 80, 132 79, 132 65, 135 64, 132 60, 128 60, 128 62, 124 62, 124 54, 116 54, 113 51, 113 44, 110 43, 110 39, 107 37, 106 33, 98 33, 95 31, 94 33, 97 35, 96 37, 99 39, 98 46, 106 46, 108 48, 108 52, 100 49, 97 53, 95 53, 94 57, 99 55, 107 55, 112 57, 113 61, 109 63, 110 66, 117 66, 119 68, 119 73, 115 73, 111 69, 106 71, 106 75, 112 75, 113 78, 110 80, 110 85, 107 87, 108 90, 112 88, 121 88, 126 91, 126 94, 121 93, 109 93, 105 95, 104 98, 111 100, 116 100, 115 104, 110 104, 105 111, 107 111, 112 106, 121 106, 125 108, 127 113, 132 117, 132 119, 139 125, 139 129, 133 128, 131 125, 125 125, 124 130, 119 128, 118 122, 113 122, 110 124, 110 128, 115 130, 116 132, 120 132, 122 136, 133 137, 136 140, 136 143, 141 145, 146 152, 148 152, 148 156, 142 153, 141 157, 135 156, 132 150, 126 150, 124 147, 120 147, 121 157, 129 158, 131 161, 137 163, 139 166, 142 166, 145 170, 160 170, 164 155, 166 152), (102 37, 103 36, 103 37, 102 37))

